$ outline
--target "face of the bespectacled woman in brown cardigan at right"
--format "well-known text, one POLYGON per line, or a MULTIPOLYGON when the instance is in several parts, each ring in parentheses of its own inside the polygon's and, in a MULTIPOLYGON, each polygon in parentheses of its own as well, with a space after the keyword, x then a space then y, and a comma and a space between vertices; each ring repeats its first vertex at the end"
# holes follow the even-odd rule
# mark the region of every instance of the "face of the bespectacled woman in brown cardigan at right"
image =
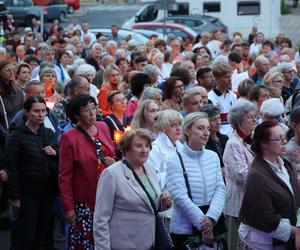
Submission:
POLYGON ((270 137, 267 142, 262 143, 265 156, 282 157, 286 154, 286 137, 282 128, 277 125, 270 128, 270 137))

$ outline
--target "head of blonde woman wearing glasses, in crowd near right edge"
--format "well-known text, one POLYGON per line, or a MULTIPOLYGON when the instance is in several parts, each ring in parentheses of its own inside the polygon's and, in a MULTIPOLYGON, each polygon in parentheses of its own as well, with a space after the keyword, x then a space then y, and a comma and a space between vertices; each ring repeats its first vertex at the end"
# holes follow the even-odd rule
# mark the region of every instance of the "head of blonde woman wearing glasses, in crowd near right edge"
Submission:
POLYGON ((282 99, 281 92, 284 86, 283 74, 278 71, 269 71, 263 79, 264 86, 269 90, 271 97, 282 99))

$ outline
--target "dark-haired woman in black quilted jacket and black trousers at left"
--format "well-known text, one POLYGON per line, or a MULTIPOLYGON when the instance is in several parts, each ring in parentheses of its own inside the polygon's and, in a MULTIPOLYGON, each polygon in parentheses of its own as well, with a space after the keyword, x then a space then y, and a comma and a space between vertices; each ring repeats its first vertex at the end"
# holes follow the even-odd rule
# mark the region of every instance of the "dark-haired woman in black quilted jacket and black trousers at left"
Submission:
POLYGON ((8 135, 5 145, 13 250, 41 248, 57 185, 57 143, 53 131, 44 127, 46 103, 32 96, 24 110, 26 121, 8 135))

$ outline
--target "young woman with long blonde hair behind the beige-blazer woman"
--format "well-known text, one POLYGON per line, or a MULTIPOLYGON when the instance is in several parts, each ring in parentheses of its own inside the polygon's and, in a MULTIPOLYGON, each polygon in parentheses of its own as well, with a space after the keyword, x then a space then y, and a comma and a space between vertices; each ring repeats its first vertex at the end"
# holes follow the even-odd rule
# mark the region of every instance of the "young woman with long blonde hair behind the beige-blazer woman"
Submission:
POLYGON ((140 102, 131 121, 133 129, 144 128, 149 132, 152 140, 157 137, 157 129, 154 123, 157 118, 159 107, 154 100, 140 102))

